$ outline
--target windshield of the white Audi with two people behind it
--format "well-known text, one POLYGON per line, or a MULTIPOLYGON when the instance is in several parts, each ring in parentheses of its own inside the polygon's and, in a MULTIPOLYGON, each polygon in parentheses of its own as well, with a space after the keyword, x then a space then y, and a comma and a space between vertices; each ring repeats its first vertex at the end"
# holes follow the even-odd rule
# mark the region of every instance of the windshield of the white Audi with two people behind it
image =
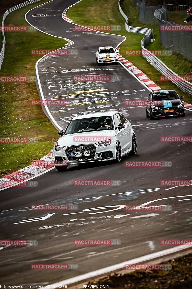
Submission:
POLYGON ((98 131, 113 129, 111 116, 97 116, 72 120, 65 134, 77 134, 86 131, 98 131))

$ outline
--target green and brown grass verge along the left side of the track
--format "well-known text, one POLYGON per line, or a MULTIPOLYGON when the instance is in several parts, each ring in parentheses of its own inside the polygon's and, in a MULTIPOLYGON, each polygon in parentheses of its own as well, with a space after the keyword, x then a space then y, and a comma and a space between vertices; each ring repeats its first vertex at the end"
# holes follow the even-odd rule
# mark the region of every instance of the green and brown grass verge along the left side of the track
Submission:
MULTIPOLYGON (((33 7, 46 3, 39 1, 20 8, 5 18, 5 25, 28 25, 24 14, 33 7)), ((6 32, 5 57, 1 76, 35 76, 35 63, 41 57, 31 55, 31 49, 57 49, 66 41, 42 32, 6 32)), ((58 139, 57 130, 45 116, 41 106, 31 106, 31 99, 39 99, 35 82, 0 82, 1 129, 0 136, 37 137, 36 143, 0 143, 0 175, 12 173, 39 160, 58 139)))

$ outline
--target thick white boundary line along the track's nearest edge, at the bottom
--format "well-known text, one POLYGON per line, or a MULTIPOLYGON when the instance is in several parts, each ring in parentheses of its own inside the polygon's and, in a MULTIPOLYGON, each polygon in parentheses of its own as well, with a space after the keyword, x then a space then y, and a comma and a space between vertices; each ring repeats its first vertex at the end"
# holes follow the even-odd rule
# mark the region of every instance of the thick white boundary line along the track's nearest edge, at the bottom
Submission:
POLYGON ((166 249, 163 251, 158 251, 152 254, 148 254, 142 257, 138 257, 132 260, 128 260, 119 264, 115 264, 112 266, 108 266, 96 271, 92 271, 83 275, 79 275, 70 279, 66 279, 60 282, 56 282, 54 284, 50 284, 50 285, 56 285, 56 286, 62 286, 62 285, 75 285, 77 283, 79 283, 80 281, 86 281, 87 279, 90 278, 97 278, 99 276, 103 276, 103 275, 108 275, 110 273, 113 273, 114 271, 118 271, 118 270, 123 270, 124 269, 124 265, 125 264, 142 264, 142 262, 148 262, 154 259, 158 259, 160 257, 164 257, 166 255, 170 255, 172 253, 176 253, 182 250, 186 250, 187 248, 191 248, 191 245, 180 245, 171 249, 166 249))

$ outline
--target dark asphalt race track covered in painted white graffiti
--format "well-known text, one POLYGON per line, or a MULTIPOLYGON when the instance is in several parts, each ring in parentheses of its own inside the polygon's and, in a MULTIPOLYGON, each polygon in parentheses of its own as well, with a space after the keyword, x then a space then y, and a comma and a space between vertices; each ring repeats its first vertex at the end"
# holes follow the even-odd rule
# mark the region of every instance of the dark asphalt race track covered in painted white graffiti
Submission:
POLYGON ((160 186, 165 179, 191 180, 191 143, 160 142, 160 137, 190 136, 192 112, 186 110, 182 118, 150 121, 143 107, 126 107, 125 100, 147 99, 149 90, 120 64, 96 64, 98 47, 117 47, 123 37, 74 31, 73 23, 64 21, 61 15, 75 2, 50 1, 26 15, 27 21, 43 32, 74 42, 65 49, 78 50, 75 56, 46 56, 39 61, 45 99, 69 101, 66 106, 48 108, 62 128, 78 114, 118 109, 133 125, 138 153, 124 156, 118 164, 87 165, 66 172, 54 168, 35 178, 37 187, 2 190, 1 239, 38 241, 37 246, 0 248, 0 278, 5 285, 51 284, 173 247, 160 245, 161 239, 191 237, 191 187, 160 186), (75 75, 94 74, 120 77, 121 81, 73 80, 75 75), (172 166, 130 168, 124 166, 128 160, 171 161, 172 166), (118 180, 121 185, 74 186, 74 180, 118 180), (152 201, 156 205, 172 205, 172 211, 128 212, 123 208, 125 204, 152 201), (32 211, 32 204, 76 204, 79 209, 32 211), (74 239, 118 239, 121 245, 75 246, 74 239), (32 263, 78 264, 79 269, 31 270, 32 263))

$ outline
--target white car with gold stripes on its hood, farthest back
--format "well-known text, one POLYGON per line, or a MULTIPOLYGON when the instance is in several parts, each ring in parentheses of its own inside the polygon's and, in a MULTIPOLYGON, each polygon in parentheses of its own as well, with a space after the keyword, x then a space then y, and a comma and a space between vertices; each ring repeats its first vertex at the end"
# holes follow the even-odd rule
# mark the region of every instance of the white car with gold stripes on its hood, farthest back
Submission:
POLYGON ((98 51, 95 54, 96 62, 98 65, 102 63, 118 64, 117 53, 112 46, 99 47, 98 51))

